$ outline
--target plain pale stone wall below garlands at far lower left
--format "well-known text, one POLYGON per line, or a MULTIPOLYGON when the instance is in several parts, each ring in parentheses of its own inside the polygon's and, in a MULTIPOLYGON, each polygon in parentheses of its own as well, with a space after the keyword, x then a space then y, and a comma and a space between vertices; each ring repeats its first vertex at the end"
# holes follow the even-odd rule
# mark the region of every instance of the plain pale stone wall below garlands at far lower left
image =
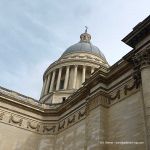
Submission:
POLYGON ((0 150, 38 150, 40 135, 0 124, 0 150))

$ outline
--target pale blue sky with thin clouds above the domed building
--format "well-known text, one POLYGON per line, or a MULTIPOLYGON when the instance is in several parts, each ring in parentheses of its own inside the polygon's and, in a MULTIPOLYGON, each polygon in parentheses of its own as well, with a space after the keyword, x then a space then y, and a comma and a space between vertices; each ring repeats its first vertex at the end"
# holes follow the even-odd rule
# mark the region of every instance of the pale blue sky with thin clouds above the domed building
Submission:
POLYGON ((46 68, 79 41, 84 26, 109 64, 150 14, 149 0, 0 0, 0 86, 39 99, 46 68))

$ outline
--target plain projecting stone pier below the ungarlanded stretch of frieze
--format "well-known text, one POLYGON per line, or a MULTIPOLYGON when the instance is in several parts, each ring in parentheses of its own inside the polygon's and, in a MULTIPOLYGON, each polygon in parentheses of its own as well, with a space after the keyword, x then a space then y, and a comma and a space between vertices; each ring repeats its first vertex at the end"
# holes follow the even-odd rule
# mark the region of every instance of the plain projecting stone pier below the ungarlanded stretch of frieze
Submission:
POLYGON ((106 150, 107 109, 99 106, 86 118, 86 150, 106 150))

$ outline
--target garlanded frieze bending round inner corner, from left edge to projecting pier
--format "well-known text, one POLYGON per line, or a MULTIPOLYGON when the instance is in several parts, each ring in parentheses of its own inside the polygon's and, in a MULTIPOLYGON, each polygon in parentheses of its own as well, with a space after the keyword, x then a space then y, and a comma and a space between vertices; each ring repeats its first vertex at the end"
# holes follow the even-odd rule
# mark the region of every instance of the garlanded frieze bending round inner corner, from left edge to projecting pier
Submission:
POLYGON ((24 128, 31 132, 37 132, 39 134, 56 134, 64 129, 72 126, 73 124, 77 123, 78 121, 82 120, 86 116, 85 107, 77 111, 71 116, 68 116, 63 121, 51 124, 51 123, 43 123, 42 121, 36 121, 25 116, 20 116, 17 114, 11 114, 8 111, 1 111, 0 110, 0 120, 3 119, 4 114, 6 113, 6 118, 3 123, 11 124, 15 127, 24 128))

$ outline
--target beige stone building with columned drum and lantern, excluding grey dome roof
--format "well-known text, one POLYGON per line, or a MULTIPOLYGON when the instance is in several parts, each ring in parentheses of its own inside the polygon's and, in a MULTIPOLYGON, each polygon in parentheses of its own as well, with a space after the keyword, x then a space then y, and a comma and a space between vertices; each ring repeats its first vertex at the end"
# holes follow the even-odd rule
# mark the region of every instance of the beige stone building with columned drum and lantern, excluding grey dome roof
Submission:
MULTIPOLYGON (((90 39, 86 30, 81 40, 90 39)), ((149 150, 150 16, 123 42, 133 50, 110 67, 93 54, 62 55, 44 73, 40 101, 1 87, 0 149, 149 150)))

